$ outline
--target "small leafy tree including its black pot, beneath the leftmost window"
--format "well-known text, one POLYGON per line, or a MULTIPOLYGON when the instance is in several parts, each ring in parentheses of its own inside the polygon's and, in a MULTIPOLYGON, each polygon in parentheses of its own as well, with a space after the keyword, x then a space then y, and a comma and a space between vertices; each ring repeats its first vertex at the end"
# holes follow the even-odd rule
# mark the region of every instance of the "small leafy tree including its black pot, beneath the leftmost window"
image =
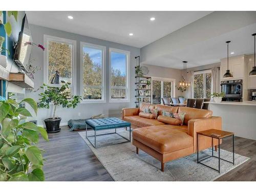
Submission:
POLYGON ((47 84, 43 84, 42 89, 45 91, 40 93, 38 107, 49 109, 49 105, 52 103, 54 105, 53 116, 51 118, 45 119, 46 129, 48 133, 59 132, 59 124, 61 121, 60 117, 56 117, 57 106, 62 105, 62 108, 75 108, 80 102, 80 96, 70 97, 69 90, 70 83, 63 84, 60 88, 50 87, 47 84))

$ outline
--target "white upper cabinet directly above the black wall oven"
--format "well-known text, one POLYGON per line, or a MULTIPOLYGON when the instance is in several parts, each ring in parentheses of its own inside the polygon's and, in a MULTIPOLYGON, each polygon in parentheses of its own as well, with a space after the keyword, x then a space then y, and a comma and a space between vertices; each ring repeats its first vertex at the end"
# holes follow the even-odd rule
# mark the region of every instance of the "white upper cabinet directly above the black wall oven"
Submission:
MULTIPOLYGON (((243 79, 244 78, 244 56, 230 57, 228 63, 228 69, 233 75, 231 79, 243 79)), ((227 70, 227 58, 221 59, 220 78, 223 79, 223 75, 227 70)))

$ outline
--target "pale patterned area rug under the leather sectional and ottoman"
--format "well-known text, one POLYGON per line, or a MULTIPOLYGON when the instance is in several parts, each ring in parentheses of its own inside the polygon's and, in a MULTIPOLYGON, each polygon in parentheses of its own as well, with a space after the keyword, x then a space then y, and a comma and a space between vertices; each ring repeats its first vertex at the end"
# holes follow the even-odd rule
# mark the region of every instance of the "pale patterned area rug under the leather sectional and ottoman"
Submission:
MULTIPOLYGON (((103 132, 113 132, 113 130, 103 132)), ((88 133, 94 135, 94 131, 88 133)), ((118 133, 129 137, 129 131, 124 129, 118 129, 118 133)), ((115 181, 214 181, 250 159, 235 154, 234 165, 221 160, 221 173, 219 174, 215 170, 198 164, 197 154, 193 154, 165 163, 164 172, 161 172, 161 163, 141 150, 139 154, 136 154, 136 147, 131 142, 94 148, 86 138, 86 132, 79 132, 79 135, 115 181)), ((90 137, 90 140, 94 142, 94 137, 90 137)), ((97 145, 122 141, 125 140, 117 134, 97 136, 97 145)), ((210 149, 201 152, 200 158, 207 155, 211 155, 210 149)), ((218 153, 215 152, 214 155, 218 156, 218 153)), ((232 153, 221 150, 221 158, 232 161, 232 153)), ((218 168, 217 158, 209 158, 203 163, 218 168)))

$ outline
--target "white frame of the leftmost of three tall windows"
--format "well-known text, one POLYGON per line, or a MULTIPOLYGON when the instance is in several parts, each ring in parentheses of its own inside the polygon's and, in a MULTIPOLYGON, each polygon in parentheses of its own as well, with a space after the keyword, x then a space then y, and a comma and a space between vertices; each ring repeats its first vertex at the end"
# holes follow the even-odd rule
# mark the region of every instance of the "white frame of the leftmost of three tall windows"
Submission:
POLYGON ((72 46, 72 60, 71 60, 71 96, 76 95, 76 40, 55 37, 51 35, 44 34, 44 83, 51 87, 61 87, 61 84, 51 84, 49 83, 49 41, 63 42, 71 44, 72 46))

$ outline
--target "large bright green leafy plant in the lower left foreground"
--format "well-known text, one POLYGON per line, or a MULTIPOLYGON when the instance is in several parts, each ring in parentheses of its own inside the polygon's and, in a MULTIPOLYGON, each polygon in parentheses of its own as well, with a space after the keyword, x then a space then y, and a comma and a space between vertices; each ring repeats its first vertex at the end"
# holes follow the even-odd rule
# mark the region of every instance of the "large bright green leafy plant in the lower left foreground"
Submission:
POLYGON ((35 144, 39 134, 48 141, 44 128, 23 119, 31 117, 31 113, 20 108, 20 104, 28 103, 37 113, 37 103, 26 98, 17 103, 8 99, 0 101, 0 181, 44 181, 42 170, 42 152, 35 144))

